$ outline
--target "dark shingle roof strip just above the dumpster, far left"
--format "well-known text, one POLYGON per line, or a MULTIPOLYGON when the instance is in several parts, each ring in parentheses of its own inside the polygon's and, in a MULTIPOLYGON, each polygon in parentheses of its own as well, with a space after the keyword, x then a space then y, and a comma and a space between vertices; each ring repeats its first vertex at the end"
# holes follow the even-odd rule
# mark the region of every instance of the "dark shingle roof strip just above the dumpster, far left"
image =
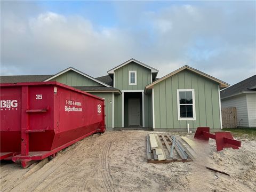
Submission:
POLYGON ((0 76, 0 83, 42 82, 53 75, 7 75, 0 76))

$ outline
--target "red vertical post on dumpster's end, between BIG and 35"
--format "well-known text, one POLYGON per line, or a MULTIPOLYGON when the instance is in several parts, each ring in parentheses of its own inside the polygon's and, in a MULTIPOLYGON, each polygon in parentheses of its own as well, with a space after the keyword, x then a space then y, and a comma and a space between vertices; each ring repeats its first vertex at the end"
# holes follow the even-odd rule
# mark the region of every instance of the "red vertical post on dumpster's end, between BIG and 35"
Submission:
POLYGON ((27 156, 29 152, 29 137, 26 131, 28 127, 28 86, 21 87, 21 156, 27 156))

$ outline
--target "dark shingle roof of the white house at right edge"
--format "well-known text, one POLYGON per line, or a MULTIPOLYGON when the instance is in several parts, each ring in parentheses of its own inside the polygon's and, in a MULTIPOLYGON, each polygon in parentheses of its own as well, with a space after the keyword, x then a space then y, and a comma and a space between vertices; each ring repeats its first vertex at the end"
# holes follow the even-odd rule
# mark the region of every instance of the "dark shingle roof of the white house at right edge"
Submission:
POLYGON ((244 92, 256 92, 256 75, 236 83, 220 92, 220 98, 228 98, 244 92))

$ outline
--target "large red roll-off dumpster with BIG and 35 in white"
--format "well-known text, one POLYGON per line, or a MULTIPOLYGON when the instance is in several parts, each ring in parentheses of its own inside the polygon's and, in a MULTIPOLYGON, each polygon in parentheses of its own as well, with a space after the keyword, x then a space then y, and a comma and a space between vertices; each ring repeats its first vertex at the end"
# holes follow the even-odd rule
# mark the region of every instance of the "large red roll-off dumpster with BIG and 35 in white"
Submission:
POLYGON ((95 132, 104 100, 58 82, 1 84, 1 159, 26 167, 95 132))

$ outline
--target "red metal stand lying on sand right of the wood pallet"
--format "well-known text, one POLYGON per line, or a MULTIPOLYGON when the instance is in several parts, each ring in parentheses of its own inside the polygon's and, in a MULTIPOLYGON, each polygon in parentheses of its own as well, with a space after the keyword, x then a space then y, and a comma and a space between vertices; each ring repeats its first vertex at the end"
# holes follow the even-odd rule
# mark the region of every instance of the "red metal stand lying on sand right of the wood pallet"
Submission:
POLYGON ((197 127, 194 138, 207 142, 209 138, 215 139, 217 151, 225 147, 232 147, 233 149, 241 147, 241 141, 235 140, 230 132, 215 132, 215 134, 212 134, 210 133, 210 127, 197 127))

